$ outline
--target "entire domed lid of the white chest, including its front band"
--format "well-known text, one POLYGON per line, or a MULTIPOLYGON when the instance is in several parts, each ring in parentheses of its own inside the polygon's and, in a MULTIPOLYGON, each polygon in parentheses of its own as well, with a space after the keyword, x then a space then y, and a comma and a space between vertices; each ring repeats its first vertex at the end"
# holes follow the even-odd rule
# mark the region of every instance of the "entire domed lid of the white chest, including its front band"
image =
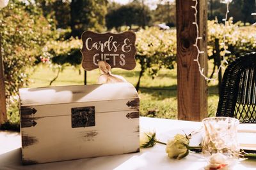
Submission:
MULTIPOLYGON (((131 83, 19 89, 20 118, 76 113, 138 113, 140 99, 131 83)), ((130 116, 132 116, 130 114, 130 116)))

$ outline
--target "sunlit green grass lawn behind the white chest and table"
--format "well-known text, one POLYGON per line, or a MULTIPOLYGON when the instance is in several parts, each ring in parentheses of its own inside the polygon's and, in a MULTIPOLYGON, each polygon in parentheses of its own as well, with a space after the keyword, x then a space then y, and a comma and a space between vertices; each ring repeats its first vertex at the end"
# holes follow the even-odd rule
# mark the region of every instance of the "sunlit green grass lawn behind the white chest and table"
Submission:
MULTIPOLYGON (((113 74, 124 76, 124 78, 136 85, 140 66, 137 66, 132 71, 123 69, 113 69, 113 74)), ((56 76, 57 71, 53 71, 50 67, 40 64, 31 72, 31 83, 29 87, 45 87, 49 86, 50 81, 56 76)), ((87 83, 97 83, 99 70, 87 72, 87 83)), ((58 76, 57 80, 52 83, 52 86, 59 85, 83 85, 84 71, 81 69, 81 74, 76 68, 66 67, 58 76)), ((159 75, 152 79, 145 74, 141 78, 140 95, 140 115, 147 117, 158 118, 177 118, 177 70, 163 69, 159 75)), ((218 89, 216 84, 209 83, 208 96, 208 113, 209 117, 215 115, 218 106, 218 89)), ((19 109, 17 103, 14 103, 8 111, 8 119, 10 122, 19 122, 19 109)))

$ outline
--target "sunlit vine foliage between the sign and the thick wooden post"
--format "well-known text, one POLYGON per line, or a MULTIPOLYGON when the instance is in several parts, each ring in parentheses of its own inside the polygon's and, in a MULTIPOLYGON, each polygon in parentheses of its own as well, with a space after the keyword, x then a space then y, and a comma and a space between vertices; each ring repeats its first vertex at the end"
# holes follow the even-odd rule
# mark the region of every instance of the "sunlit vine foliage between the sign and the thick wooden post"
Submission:
POLYGON ((145 71, 157 75, 163 67, 173 69, 176 60, 176 30, 160 30, 158 27, 141 29, 137 32, 136 59, 141 65, 136 89, 140 88, 140 78, 145 71))

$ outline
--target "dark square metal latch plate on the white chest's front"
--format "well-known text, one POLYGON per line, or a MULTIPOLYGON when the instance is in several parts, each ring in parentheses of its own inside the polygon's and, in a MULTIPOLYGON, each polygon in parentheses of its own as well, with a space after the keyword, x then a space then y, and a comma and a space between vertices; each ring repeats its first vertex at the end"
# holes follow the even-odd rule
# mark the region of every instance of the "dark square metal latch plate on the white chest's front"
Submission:
POLYGON ((95 126, 95 106, 71 108, 72 128, 95 126))

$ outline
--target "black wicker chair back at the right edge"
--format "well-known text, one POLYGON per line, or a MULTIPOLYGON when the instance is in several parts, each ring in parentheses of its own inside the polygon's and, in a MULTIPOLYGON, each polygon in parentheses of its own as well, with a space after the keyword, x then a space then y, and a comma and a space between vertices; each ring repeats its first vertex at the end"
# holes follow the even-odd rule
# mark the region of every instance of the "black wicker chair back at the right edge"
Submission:
POLYGON ((234 117, 256 123, 256 52, 231 62, 221 83, 217 117, 234 117))

